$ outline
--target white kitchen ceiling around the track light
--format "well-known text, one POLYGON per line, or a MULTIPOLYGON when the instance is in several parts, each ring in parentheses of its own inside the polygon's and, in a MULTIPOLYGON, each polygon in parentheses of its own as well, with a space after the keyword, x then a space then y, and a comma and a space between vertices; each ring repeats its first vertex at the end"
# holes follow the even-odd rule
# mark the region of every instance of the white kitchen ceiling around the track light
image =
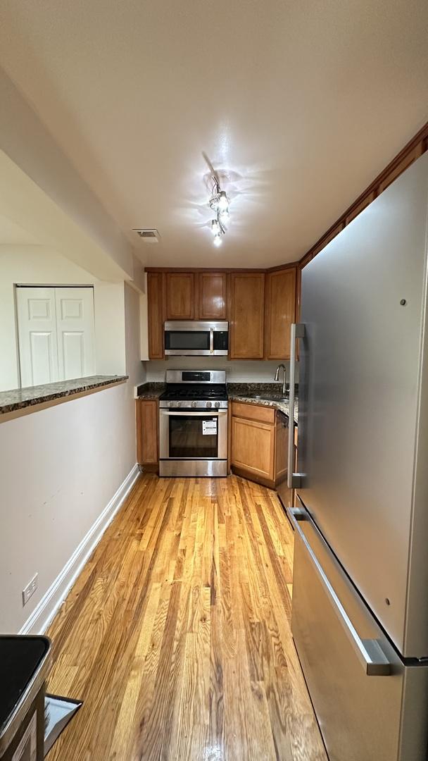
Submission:
POLYGON ((428 119, 427 30, 426 0, 2 0, 0 63, 148 264, 269 266, 428 119))

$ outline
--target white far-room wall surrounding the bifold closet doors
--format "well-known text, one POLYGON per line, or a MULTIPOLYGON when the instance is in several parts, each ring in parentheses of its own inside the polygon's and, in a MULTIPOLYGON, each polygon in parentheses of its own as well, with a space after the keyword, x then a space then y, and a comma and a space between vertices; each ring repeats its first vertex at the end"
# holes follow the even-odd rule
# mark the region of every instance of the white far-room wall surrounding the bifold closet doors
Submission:
POLYGON ((94 285, 97 374, 125 374, 123 281, 97 280, 64 256, 43 246, 0 246, 0 391, 19 385, 14 283, 94 285))

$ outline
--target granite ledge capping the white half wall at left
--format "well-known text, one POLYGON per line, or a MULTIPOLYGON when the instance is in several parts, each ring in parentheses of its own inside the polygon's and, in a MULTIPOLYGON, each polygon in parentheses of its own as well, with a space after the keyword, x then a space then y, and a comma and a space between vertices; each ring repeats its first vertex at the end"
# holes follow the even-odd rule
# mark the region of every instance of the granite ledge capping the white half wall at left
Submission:
POLYGON ((59 380, 57 383, 43 384, 43 386, 0 391, 0 415, 35 404, 52 402, 65 396, 75 396, 76 393, 82 393, 82 391, 123 383, 125 380, 128 380, 128 375, 90 375, 73 380, 59 380))

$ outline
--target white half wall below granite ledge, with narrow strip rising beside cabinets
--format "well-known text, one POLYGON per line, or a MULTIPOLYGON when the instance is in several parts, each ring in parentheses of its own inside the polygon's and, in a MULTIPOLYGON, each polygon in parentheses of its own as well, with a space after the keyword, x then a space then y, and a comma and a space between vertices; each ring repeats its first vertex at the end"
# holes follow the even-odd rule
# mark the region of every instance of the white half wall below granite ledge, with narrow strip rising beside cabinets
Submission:
POLYGON ((122 290, 128 383, 0 423, 0 632, 24 626, 135 466, 139 296, 122 290), (36 572, 39 588, 23 607, 36 572))

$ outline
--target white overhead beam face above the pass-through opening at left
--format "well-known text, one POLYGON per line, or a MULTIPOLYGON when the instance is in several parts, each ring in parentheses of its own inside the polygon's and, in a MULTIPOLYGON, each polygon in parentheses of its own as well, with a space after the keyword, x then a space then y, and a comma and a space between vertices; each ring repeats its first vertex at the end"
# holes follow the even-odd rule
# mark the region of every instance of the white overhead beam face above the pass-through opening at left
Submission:
POLYGON ((125 235, 2 69, 0 148, 23 175, 20 181, 0 157, 2 174, 11 170, 2 199, 11 218, 31 225, 37 240, 40 234, 49 235, 52 243, 55 239, 63 253, 67 249, 71 259, 98 277, 107 259, 110 272, 133 277, 133 252, 125 235), (80 244, 69 247, 70 240, 80 244))

